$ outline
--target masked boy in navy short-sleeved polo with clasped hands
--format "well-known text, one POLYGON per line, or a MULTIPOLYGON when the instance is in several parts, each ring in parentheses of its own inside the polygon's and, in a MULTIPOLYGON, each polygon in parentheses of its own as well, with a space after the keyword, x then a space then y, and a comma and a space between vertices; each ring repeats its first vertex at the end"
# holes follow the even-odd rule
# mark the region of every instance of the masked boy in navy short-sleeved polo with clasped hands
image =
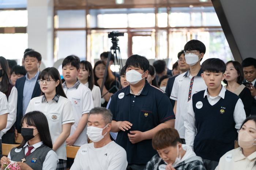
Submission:
POLYGON ((175 115, 166 93, 147 82, 146 57, 130 56, 125 69, 130 85, 111 98, 111 131, 118 132, 116 143, 127 152, 127 169, 141 170, 157 154, 152 147, 153 135, 160 129, 174 127, 175 115))

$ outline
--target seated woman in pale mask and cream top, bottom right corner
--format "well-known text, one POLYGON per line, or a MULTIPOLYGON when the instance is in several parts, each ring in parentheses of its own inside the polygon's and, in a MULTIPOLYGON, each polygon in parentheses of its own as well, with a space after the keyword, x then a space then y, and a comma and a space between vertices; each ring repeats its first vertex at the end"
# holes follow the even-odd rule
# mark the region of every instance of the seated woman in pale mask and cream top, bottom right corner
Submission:
POLYGON ((221 157, 215 170, 256 169, 256 116, 244 120, 238 134, 238 145, 240 147, 221 157))

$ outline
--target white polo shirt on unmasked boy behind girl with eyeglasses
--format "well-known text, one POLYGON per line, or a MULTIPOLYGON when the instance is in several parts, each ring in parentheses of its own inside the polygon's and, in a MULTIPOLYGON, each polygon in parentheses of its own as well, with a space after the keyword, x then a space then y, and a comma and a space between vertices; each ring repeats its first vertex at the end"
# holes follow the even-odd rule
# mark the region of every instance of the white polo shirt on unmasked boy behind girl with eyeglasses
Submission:
MULTIPOLYGON (((78 123, 82 118, 82 115, 89 113, 90 110, 93 108, 93 97, 91 95, 91 90, 88 87, 84 86, 84 84, 80 83, 79 80, 77 80, 74 86, 69 88, 67 88, 65 82, 62 85, 67 98, 71 101, 74 112, 75 124, 71 127, 69 135, 69 137, 71 137, 74 134, 76 128, 78 127, 78 123)), ((87 125, 78 137, 78 139, 76 139, 76 142, 73 146, 82 146, 88 143, 86 132, 87 125)))

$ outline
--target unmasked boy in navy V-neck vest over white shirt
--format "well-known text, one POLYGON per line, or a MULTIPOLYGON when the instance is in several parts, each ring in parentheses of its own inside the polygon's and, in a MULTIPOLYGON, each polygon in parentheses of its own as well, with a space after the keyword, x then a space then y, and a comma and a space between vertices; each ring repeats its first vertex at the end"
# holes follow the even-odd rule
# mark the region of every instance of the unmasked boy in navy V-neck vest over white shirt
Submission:
POLYGON ((203 158, 206 169, 214 170, 222 155, 234 149, 246 116, 242 100, 221 85, 226 76, 225 63, 221 59, 207 59, 202 70, 207 89, 192 97, 184 122, 185 140, 203 158))

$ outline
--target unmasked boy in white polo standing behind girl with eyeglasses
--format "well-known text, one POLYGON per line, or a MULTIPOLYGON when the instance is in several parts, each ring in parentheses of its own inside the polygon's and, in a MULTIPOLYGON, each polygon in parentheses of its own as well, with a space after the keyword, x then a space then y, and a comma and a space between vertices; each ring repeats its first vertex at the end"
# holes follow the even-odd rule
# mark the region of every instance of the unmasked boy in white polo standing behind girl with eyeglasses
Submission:
MULTIPOLYGON (((91 90, 80 83, 77 76, 80 72, 80 59, 76 56, 67 56, 62 63, 62 73, 65 81, 63 89, 67 98, 71 101, 75 124, 71 126, 71 132, 67 138, 68 146, 81 146, 87 143, 88 113, 93 108, 91 90)), ((67 167, 71 167, 74 159, 67 160, 67 167)))

